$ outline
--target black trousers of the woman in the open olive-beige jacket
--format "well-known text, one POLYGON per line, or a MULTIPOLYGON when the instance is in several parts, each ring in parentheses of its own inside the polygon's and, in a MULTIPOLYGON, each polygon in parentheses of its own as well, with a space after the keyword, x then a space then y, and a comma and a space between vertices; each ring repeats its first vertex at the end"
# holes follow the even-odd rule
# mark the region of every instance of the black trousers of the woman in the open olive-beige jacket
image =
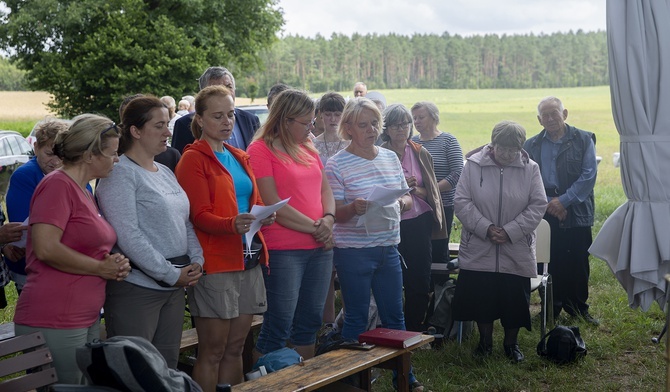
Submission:
POLYGON ((402 282, 405 288, 405 327, 408 331, 423 331, 423 321, 430 300, 430 264, 432 262, 430 234, 432 212, 400 221, 398 251, 405 260, 402 282))

